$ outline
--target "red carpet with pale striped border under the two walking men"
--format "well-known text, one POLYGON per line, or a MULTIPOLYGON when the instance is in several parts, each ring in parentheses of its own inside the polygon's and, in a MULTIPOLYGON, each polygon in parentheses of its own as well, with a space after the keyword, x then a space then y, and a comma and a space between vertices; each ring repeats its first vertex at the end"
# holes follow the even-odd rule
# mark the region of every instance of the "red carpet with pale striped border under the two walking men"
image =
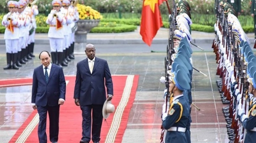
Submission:
MULTIPOLYGON (((66 101, 60 109, 60 129, 59 129, 59 140, 58 143, 79 143, 81 140, 81 109, 74 103, 73 93, 75 86, 75 76, 66 76, 67 84, 66 90, 66 101)), ((124 135, 128 116, 132 104, 134 102, 138 79, 139 76, 112 76, 114 96, 112 104, 115 105, 115 113, 111 114, 107 119, 107 122, 102 123, 101 132, 101 143, 121 143, 124 135)), ((32 79, 11 79, 1 80, 0 87, 18 86, 32 84, 32 79)), ((38 124, 36 121, 38 118, 34 118, 37 115, 37 111, 33 111, 32 114, 27 118, 22 126, 17 130, 15 135, 9 141, 9 143, 37 143, 38 135, 37 128, 38 124), (32 121, 34 119, 34 121, 32 121), (35 128, 29 128, 34 123, 35 128), (31 133, 30 133, 31 132, 31 133)), ((47 120, 48 121, 48 120, 47 120)), ((49 141, 49 122, 47 122, 47 138, 49 141)), ((33 127, 33 126, 32 126, 33 127)), ((91 141, 92 142, 92 141, 91 141)))

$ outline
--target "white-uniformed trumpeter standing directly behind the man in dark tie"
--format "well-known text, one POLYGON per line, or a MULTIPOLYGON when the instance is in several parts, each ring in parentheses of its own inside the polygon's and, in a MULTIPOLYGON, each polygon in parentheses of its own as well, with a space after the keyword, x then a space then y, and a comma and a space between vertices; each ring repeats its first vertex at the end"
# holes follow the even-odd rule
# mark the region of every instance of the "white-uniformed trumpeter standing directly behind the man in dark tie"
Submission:
MULTIPOLYGON (((66 24, 64 14, 60 12, 61 1, 52 1, 53 9, 47 17, 46 23, 49 24, 48 37, 51 48, 52 63, 58 64, 62 67, 63 63, 63 42, 64 42, 64 29, 63 25, 66 24)), ((67 66, 67 65, 66 65, 67 66)))

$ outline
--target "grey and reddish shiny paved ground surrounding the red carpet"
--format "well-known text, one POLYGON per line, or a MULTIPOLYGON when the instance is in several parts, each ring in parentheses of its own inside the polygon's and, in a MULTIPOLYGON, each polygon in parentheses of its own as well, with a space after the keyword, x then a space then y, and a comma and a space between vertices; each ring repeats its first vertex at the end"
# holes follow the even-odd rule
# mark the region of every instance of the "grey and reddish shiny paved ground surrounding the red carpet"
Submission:
MULTIPOLYGON (((166 32, 165 29, 161 30, 163 33, 166 32)), ((163 33, 160 32, 157 36, 163 33)), ((88 34, 88 39, 90 35, 94 34, 88 34)), ((94 38, 103 41, 105 35, 108 35, 108 39, 111 38, 109 37, 111 34, 100 35, 97 34, 94 38)), ((112 35, 124 38, 122 36, 125 34, 112 35)), ((194 36, 192 31, 193 38, 207 37, 213 40, 213 36, 210 37, 210 35, 214 36, 214 34, 204 33, 194 36)), ((159 143, 160 114, 164 89, 164 84, 160 84, 159 78, 164 75, 163 60, 166 56, 164 51, 167 36, 166 44, 155 43, 151 48, 148 48, 145 44, 93 44, 96 45, 96 56, 108 60, 112 74, 140 75, 136 98, 129 115, 128 126, 122 143, 159 143), (156 52, 151 52, 151 50, 156 52)), ((226 123, 221 112, 224 105, 221 103, 215 84, 218 79, 218 76, 215 75, 217 66, 215 55, 211 50, 210 42, 198 43, 198 45, 203 45, 205 51, 198 48, 193 49, 193 64, 208 77, 204 77, 196 71, 193 73, 193 101, 201 108, 201 111, 192 107, 192 143, 228 143, 226 123)), ((36 58, 30 60, 20 70, 3 70, 6 65, 6 56, 4 45, 0 45, 0 79, 32 77, 33 69, 40 65, 37 58, 39 52, 47 49, 49 50, 49 45, 36 45, 36 58)), ((68 67, 64 67, 65 75, 76 74, 76 63, 86 58, 82 51, 76 51, 76 59, 71 61, 68 67)), ((0 143, 8 143, 16 130, 32 112, 30 105, 31 88, 31 86, 0 88, 0 143)))

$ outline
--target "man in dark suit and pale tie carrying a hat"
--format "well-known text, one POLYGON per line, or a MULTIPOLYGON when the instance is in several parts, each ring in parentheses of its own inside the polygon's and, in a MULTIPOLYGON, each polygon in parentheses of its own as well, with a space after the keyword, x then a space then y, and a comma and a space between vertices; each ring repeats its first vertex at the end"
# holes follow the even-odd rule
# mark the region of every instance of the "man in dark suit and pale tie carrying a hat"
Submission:
POLYGON ((103 120, 102 108, 106 100, 105 86, 110 101, 113 96, 113 83, 108 62, 95 57, 94 45, 86 45, 85 53, 87 58, 77 63, 76 66, 74 91, 75 104, 80 106, 83 118, 80 143, 90 142, 91 130, 93 143, 99 143, 103 120), (93 120, 92 126, 91 120, 93 120))

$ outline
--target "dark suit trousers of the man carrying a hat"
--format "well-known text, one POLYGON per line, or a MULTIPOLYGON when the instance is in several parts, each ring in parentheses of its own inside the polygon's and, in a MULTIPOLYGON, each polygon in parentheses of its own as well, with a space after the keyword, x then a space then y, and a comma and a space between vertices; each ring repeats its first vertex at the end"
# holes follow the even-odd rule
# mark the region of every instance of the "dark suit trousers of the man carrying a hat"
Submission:
POLYGON ((82 140, 90 142, 90 133, 92 132, 93 142, 100 140, 100 132, 102 127, 102 108, 103 105, 81 105, 82 110, 82 140), (93 119, 93 124, 91 124, 93 119), (92 125, 92 126, 91 126, 92 125))

